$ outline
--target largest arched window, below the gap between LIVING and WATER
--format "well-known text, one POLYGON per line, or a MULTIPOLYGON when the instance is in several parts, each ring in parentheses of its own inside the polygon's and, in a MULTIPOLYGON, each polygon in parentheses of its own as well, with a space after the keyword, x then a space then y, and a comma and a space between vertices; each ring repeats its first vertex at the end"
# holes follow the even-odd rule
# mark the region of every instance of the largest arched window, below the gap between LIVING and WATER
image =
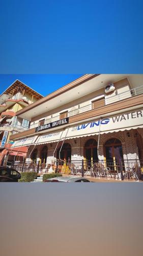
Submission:
POLYGON ((119 139, 112 138, 104 145, 106 163, 111 169, 120 170, 123 165, 122 143, 119 139))

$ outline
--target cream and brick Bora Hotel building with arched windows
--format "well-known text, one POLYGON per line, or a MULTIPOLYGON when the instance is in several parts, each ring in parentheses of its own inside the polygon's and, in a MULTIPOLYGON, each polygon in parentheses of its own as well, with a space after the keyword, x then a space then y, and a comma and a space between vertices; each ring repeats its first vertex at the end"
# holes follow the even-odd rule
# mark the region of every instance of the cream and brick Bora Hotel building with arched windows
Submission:
POLYGON ((143 159, 143 75, 86 74, 16 116, 31 122, 10 136, 12 148, 28 147, 27 162, 143 159))

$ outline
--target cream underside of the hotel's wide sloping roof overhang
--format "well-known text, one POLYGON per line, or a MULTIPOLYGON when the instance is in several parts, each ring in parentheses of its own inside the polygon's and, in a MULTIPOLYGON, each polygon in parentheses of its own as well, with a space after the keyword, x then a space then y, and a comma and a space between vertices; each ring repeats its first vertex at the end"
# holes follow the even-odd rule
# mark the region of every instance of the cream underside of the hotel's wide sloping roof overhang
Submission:
POLYGON ((18 111, 16 115, 31 121, 32 118, 38 115, 105 88, 110 82, 116 82, 129 76, 127 74, 87 74, 81 76, 61 89, 18 111))

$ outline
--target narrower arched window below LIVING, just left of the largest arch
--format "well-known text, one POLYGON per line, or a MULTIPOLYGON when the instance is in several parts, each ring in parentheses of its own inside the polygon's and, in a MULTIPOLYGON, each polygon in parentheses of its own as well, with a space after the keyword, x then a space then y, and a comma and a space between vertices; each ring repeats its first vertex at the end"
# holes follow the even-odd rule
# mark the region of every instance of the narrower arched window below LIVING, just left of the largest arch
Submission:
POLYGON ((94 162, 98 161, 98 154, 97 154, 97 141, 95 139, 89 139, 85 145, 85 159, 88 161, 88 164, 91 166, 94 162))

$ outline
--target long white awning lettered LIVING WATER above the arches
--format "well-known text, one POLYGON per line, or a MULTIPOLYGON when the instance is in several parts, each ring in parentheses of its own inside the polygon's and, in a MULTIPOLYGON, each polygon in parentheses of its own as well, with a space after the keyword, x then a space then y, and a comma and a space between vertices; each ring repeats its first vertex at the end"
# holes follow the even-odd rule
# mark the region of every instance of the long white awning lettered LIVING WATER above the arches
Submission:
MULTIPOLYGON (((39 136, 37 144, 45 144, 50 142, 64 140, 66 133, 66 139, 87 137, 99 134, 100 120, 91 121, 89 123, 81 123, 77 126, 68 127, 63 132, 47 133, 46 135, 39 136), (62 134, 62 136, 61 136, 62 134)), ((143 110, 128 112, 118 116, 112 116, 110 118, 104 118, 101 120, 100 134, 107 134, 131 129, 143 128, 143 110)))

